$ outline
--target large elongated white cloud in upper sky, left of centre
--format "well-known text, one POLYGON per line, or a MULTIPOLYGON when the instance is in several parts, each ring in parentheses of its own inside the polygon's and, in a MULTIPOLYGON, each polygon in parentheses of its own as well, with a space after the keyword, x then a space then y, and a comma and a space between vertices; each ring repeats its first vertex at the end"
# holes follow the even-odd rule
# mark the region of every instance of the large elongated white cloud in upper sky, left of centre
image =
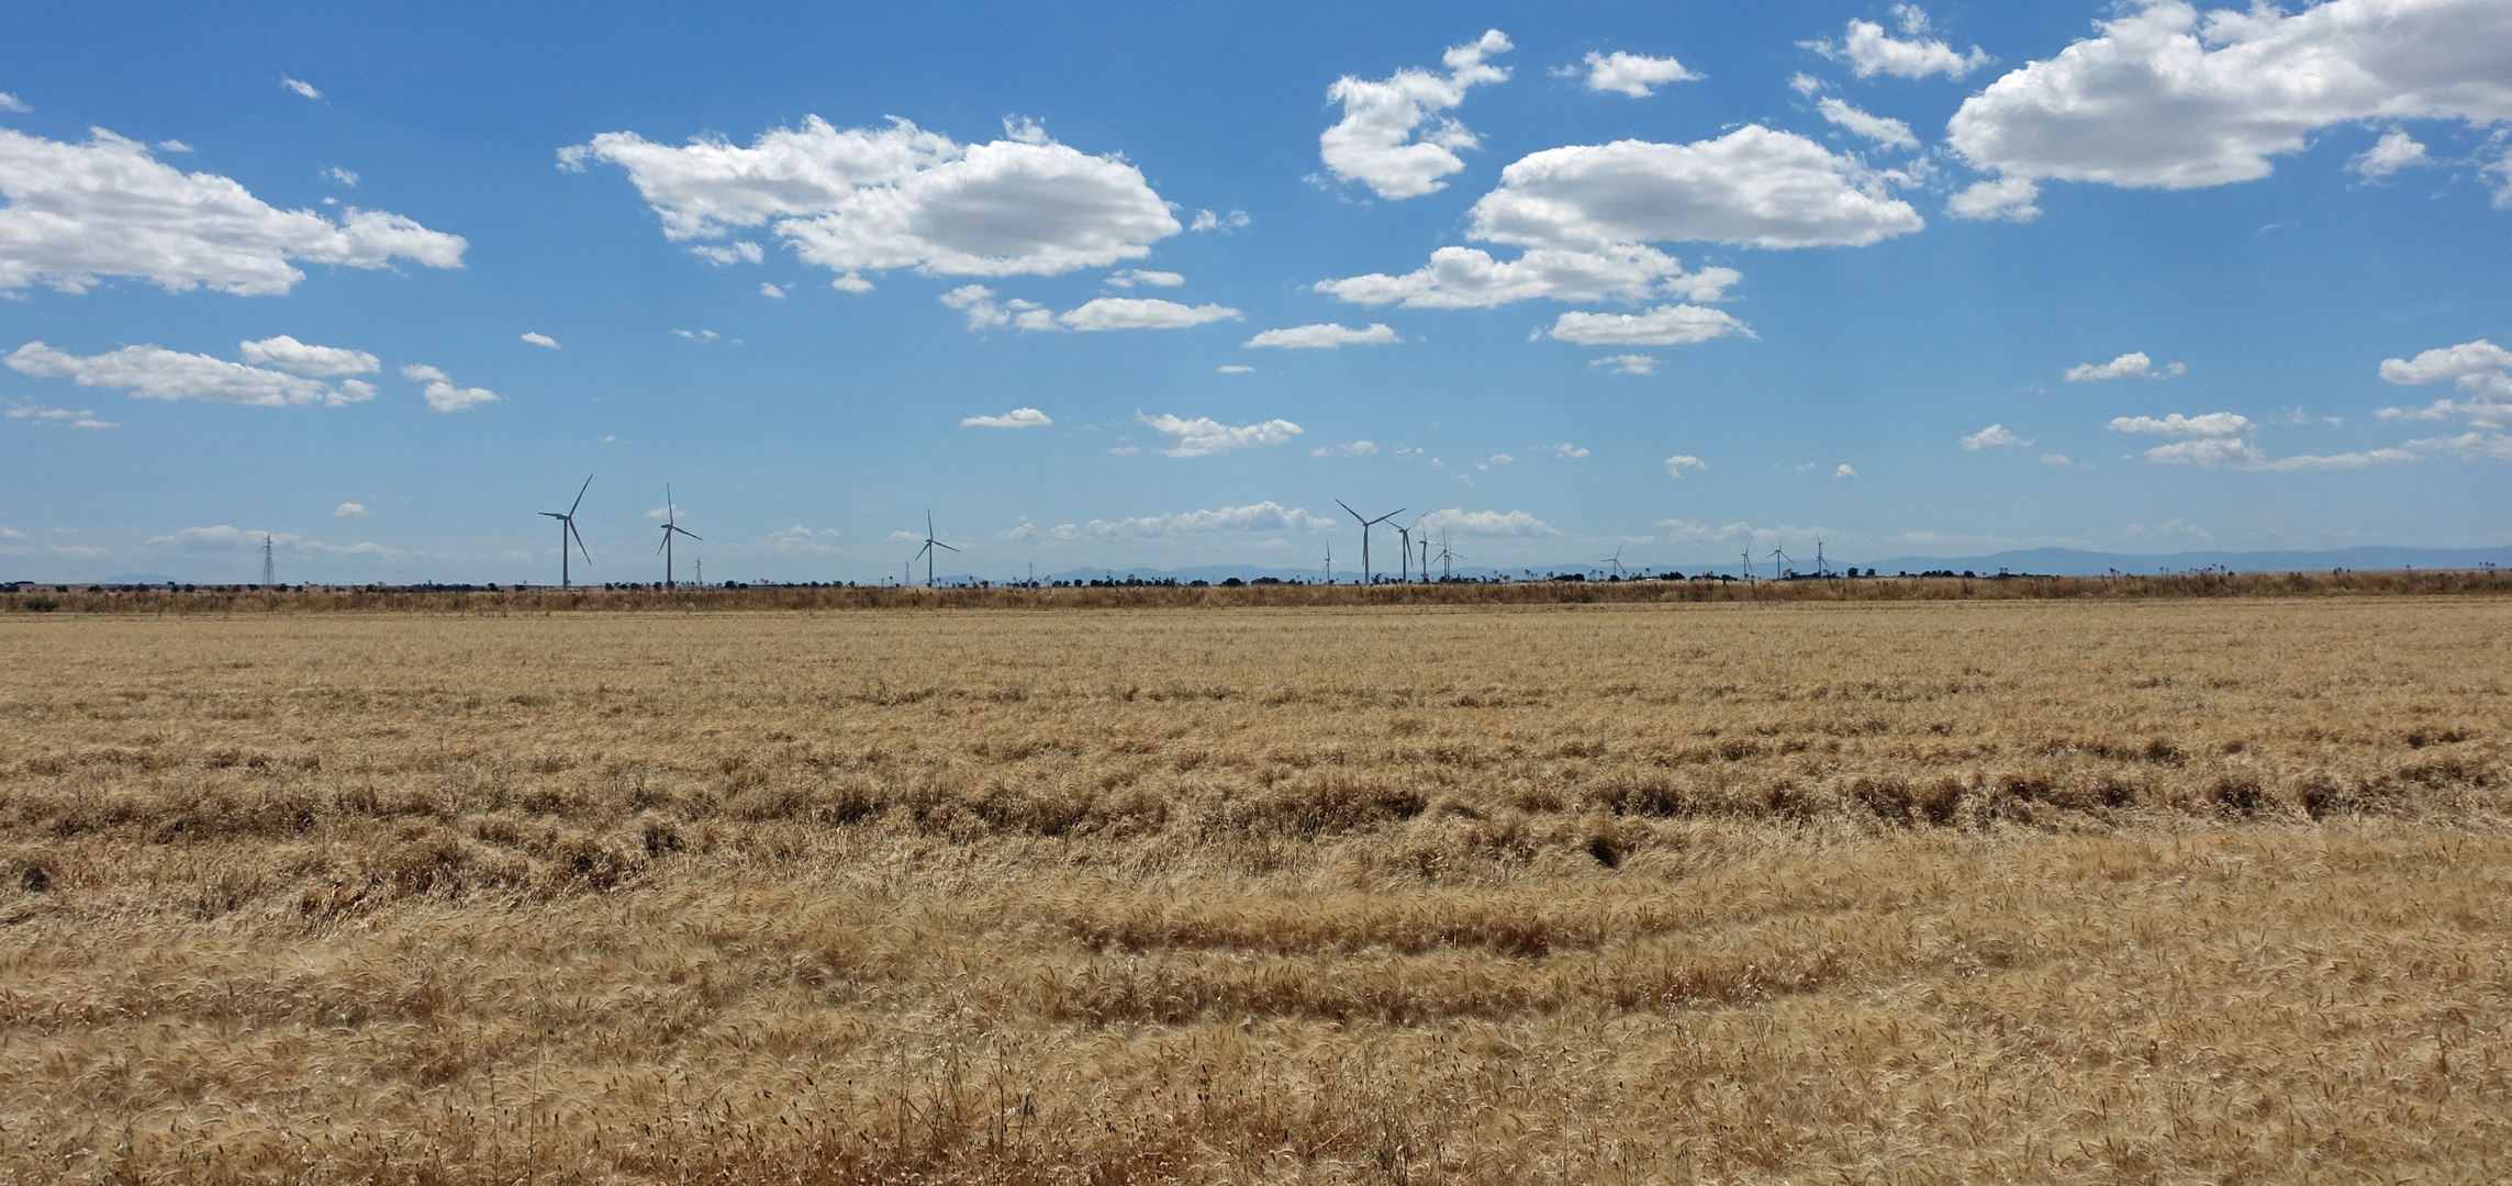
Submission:
POLYGON ((859 271, 887 269, 1053 276, 1140 259, 1181 231, 1140 168, 1055 143, 1035 123, 955 143, 902 118, 842 131, 811 116, 749 148, 610 131, 558 153, 560 168, 590 161, 625 168, 668 239, 769 226, 804 261, 857 284, 859 271))

